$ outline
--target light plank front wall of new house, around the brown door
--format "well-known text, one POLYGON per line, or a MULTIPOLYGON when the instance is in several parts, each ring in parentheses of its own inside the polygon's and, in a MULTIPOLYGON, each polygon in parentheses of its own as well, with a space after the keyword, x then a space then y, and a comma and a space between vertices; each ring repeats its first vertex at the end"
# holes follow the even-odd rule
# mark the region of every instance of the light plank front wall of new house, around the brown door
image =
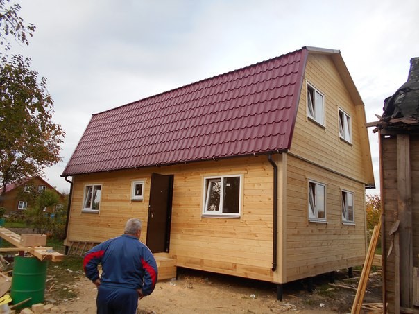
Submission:
POLYGON ((272 281, 273 169, 266 156, 74 177, 69 241, 118 236, 127 218, 143 220, 146 241, 151 172, 173 174, 170 254, 178 266, 272 281), (203 218, 203 178, 243 175, 241 218, 203 218), (143 202, 130 201, 132 180, 146 181, 143 202), (85 184, 103 184, 100 213, 82 213, 85 184))

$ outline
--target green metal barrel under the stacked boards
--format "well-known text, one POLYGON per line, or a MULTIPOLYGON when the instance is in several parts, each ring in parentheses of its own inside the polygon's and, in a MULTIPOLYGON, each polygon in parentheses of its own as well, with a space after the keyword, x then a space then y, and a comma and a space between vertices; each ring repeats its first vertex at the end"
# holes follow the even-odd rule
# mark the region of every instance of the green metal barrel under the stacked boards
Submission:
POLYGON ((28 298, 31 299, 22 304, 22 307, 44 302, 47 264, 47 261, 40 261, 35 257, 15 256, 10 288, 12 304, 28 298))

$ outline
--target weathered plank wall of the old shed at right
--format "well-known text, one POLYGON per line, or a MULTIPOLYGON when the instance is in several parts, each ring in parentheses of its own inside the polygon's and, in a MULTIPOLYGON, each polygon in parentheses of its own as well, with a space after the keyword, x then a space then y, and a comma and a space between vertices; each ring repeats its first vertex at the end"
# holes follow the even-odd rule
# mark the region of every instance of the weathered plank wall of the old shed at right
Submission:
MULTIPOLYGON (((382 168, 382 247, 384 261, 384 302, 388 313, 397 313, 400 308, 413 308, 413 268, 419 267, 419 134, 407 135, 400 143, 400 134, 380 134, 380 162, 382 168), (397 139, 398 137, 398 139, 397 139), (397 140, 399 141, 397 146, 397 140), (402 150, 408 148, 404 158, 402 150), (397 159, 398 162, 397 162, 397 159), (403 179, 405 169, 410 168, 410 177, 403 179), (402 178, 402 179, 400 179, 402 178), (402 180, 402 181, 401 181, 402 180), (409 182, 410 186, 406 185, 409 182), (405 196, 409 195, 410 196, 405 196), (402 210, 410 207, 410 227, 404 224, 402 210), (397 220, 400 225, 397 227, 397 220), (410 236, 411 234, 411 236, 410 236), (404 239, 411 238, 411 249, 404 239), (413 265, 411 262, 413 262, 413 265), (408 265, 405 267, 405 265, 408 265), (410 300, 409 300, 410 298, 410 300), (409 305, 410 303, 410 305, 409 305)), ((406 135, 404 135, 406 136, 406 135)))

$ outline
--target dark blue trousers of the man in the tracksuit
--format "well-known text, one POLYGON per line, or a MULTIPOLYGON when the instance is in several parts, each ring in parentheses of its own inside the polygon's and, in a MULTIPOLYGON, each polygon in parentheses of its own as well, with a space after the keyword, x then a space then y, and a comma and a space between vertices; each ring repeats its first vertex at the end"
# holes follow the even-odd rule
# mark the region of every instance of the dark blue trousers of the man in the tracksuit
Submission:
POLYGON ((137 313, 138 293, 135 289, 99 286, 96 299, 97 314, 137 313))

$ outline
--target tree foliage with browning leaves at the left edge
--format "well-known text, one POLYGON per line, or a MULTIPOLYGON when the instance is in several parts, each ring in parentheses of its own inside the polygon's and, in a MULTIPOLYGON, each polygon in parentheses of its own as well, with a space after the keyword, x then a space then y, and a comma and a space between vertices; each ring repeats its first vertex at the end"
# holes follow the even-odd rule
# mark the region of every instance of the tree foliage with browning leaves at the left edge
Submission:
MULTIPOLYGON (((35 26, 26 26, 15 4, 0 0, 0 44, 10 49, 8 37, 28 44, 35 26)), ((0 53, 0 205, 6 185, 24 177, 42 175, 44 168, 60 159, 65 133, 52 122, 53 100, 46 78, 31 70, 31 60, 22 55, 8 58, 0 53)))

